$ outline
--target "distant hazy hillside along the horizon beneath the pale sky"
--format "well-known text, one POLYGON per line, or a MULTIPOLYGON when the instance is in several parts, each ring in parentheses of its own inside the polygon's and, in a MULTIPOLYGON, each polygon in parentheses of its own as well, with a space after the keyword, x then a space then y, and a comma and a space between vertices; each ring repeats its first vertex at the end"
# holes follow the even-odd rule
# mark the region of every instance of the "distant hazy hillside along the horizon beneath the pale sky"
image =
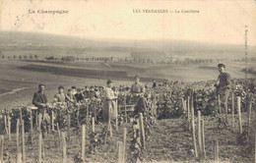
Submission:
MULTIPOLYGON (((211 44, 186 40, 93 40, 73 36, 34 32, 0 31, 0 51, 5 55, 37 54, 41 58, 73 55, 79 57, 150 57, 242 58, 243 45, 211 44), (156 54, 156 55, 155 55, 156 54)), ((249 47, 256 56, 256 47, 249 47)))

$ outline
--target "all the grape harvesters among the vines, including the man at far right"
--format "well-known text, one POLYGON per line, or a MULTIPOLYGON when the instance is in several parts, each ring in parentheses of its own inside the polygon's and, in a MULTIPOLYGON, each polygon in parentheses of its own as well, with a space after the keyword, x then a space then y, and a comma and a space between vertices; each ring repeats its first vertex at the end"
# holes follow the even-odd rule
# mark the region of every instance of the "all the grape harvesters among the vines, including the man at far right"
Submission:
MULTIPOLYGON (((217 94, 221 97, 221 102, 224 107, 227 107, 227 97, 230 92, 230 76, 225 73, 224 64, 218 65, 220 75, 218 80, 215 83, 217 87, 217 94)), ((85 98, 94 98, 94 97, 103 97, 104 104, 102 108, 103 119, 105 122, 108 122, 111 117, 117 118, 117 96, 118 93, 115 89, 113 89, 112 85, 113 81, 106 81, 105 87, 90 87, 86 86, 85 90, 80 88, 76 88, 76 86, 72 86, 71 89, 68 89, 68 93, 64 93, 64 87, 58 87, 58 93, 54 96, 54 101, 56 102, 68 102, 75 103, 80 102, 85 98)), ((153 81, 153 88, 157 86, 157 82, 153 81)), ((33 94, 32 104, 38 108, 39 113, 43 113, 45 108, 48 106, 47 96, 44 92, 45 85, 39 84, 38 91, 33 94)), ((135 101, 139 101, 138 103, 143 103, 144 95, 145 95, 145 85, 140 82, 140 77, 135 76, 135 82, 130 87, 130 93, 135 99, 135 101), (141 101, 140 101, 141 100, 141 101)), ((138 104, 139 106, 139 104, 138 104)), ((144 110, 140 107, 135 107, 135 113, 143 112, 144 110)))

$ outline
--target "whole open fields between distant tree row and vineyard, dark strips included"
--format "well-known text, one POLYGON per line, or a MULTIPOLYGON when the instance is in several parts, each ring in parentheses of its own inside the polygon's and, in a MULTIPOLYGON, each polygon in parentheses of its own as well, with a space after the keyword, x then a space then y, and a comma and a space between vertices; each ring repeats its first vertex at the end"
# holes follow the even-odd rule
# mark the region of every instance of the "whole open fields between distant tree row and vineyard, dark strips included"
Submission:
MULTIPOLYGON (((131 64, 102 64, 102 63, 78 63, 75 64, 52 64, 52 63, 37 63, 37 62, 23 62, 23 61, 0 61, 0 93, 5 93, 1 96, 0 103, 2 108, 15 107, 23 104, 30 104, 32 94, 36 91, 39 83, 46 84, 46 92, 49 99, 57 92, 59 85, 67 88, 72 85, 77 87, 85 87, 85 85, 105 85, 107 79, 115 81, 114 85, 128 84, 131 85, 133 77, 140 75, 142 82, 149 85, 152 80, 162 81, 167 79, 169 81, 207 81, 216 80, 218 77, 218 70, 216 64, 200 65, 200 66, 162 66, 162 65, 131 65, 131 64), (30 65, 32 67, 30 67, 30 65), (40 67, 47 68, 46 71, 40 71, 40 67), (33 69, 32 69, 33 68, 33 69), (36 69, 35 69, 36 68, 36 69), (55 72, 56 68, 59 69, 55 72), (96 71, 112 71, 112 74, 103 76, 77 74, 76 72, 63 71, 67 68, 86 69, 88 72, 96 71), (47 72, 48 71, 48 72, 47 72), (120 78, 114 72, 118 71, 122 74, 120 78), (122 73, 123 72, 123 73, 122 73), (19 90, 12 92, 13 90, 19 90), (12 92, 12 93, 8 93, 12 92), (11 101, 11 102, 10 102, 11 101)), ((255 67, 251 64, 250 67, 255 67)), ((227 72, 232 79, 243 78, 244 73, 241 72, 243 64, 230 64, 227 67, 227 72)), ((253 75, 248 75, 253 77, 253 75)))

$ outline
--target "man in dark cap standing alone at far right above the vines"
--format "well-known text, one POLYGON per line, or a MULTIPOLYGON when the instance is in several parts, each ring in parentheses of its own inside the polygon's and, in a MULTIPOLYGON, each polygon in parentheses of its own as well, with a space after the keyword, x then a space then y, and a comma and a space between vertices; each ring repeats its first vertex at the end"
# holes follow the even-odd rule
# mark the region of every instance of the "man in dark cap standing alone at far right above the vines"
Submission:
POLYGON ((224 64, 219 64, 218 68, 220 75, 215 86, 217 87, 217 95, 220 95, 221 102, 224 104, 225 112, 227 113, 227 98, 230 92, 231 78, 228 73, 224 72, 224 64))

